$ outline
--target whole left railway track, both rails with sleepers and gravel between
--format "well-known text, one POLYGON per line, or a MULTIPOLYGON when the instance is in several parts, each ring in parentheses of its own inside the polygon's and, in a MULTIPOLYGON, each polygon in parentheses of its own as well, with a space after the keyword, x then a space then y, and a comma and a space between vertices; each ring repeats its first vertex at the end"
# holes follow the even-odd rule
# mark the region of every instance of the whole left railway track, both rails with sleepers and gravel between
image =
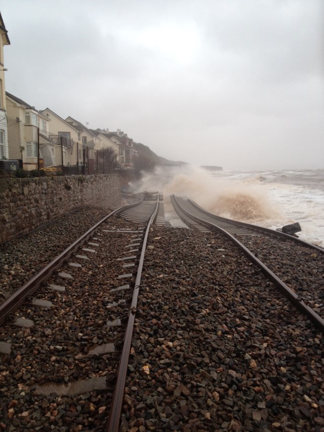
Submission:
POLYGON ((120 375, 157 198, 112 212, 3 303, 0 417, 9 430, 60 417, 66 427, 79 417, 83 428, 104 430, 110 405, 123 399, 120 375), (53 395, 59 404, 49 402, 53 395))

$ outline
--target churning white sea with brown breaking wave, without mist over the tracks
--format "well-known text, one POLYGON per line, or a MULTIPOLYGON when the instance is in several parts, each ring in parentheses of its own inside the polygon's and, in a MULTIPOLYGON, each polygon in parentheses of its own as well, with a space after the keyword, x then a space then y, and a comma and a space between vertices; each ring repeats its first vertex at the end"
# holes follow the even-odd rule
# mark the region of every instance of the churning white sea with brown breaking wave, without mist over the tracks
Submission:
POLYGON ((209 206, 213 213, 272 229, 299 222, 299 238, 324 247, 324 169, 218 171, 212 177, 223 190, 209 206))

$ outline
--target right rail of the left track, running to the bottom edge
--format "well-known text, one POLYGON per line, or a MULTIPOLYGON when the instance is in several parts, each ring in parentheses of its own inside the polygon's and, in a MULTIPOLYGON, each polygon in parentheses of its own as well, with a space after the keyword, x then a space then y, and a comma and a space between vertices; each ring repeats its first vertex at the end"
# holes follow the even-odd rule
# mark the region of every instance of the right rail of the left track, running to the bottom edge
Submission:
POLYGON ((140 289, 140 283, 141 283, 141 277, 142 277, 142 269, 144 264, 144 256, 145 256, 145 249, 147 244, 147 238, 149 234, 150 227, 154 221, 154 219, 157 216, 158 212, 158 206, 159 206, 159 195, 157 194, 157 201, 155 209, 148 221, 147 228, 145 230, 142 250, 141 250, 141 256, 138 264, 138 270, 137 270, 137 276, 135 280, 135 287, 133 291, 133 297, 132 297, 132 303, 129 313, 129 319, 127 323, 127 328, 125 332, 125 339, 124 339, 124 346, 123 351, 121 352, 121 357, 119 361, 118 371, 117 371, 117 381, 116 386, 114 390, 114 394, 112 397, 111 407, 110 407, 110 413, 107 423, 107 431, 108 432, 118 432, 119 430, 119 421, 120 421, 120 414, 121 414, 121 407, 123 405, 123 399, 124 399, 124 391, 125 391, 125 382, 126 382, 126 376, 127 376, 127 368, 128 368, 128 361, 130 356, 130 350, 131 350, 131 343, 132 343, 132 335, 133 335, 133 329, 134 329, 134 323, 135 323, 135 313, 137 308, 137 299, 140 289))

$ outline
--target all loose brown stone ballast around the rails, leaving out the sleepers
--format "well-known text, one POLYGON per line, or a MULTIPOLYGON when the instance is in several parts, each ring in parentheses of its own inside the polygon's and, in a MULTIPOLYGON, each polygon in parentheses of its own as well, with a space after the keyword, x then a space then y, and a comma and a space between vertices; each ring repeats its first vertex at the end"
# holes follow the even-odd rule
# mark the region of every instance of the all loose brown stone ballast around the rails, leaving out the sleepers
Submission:
MULTIPOLYGON (((49 231, 0 245, 3 297, 106 214, 100 209, 76 212, 73 228, 60 220, 47 227, 49 231)), ((130 223, 116 219, 113 226, 130 223)), ((89 242, 99 244, 100 237, 89 242)), ((124 303, 124 290, 110 290, 134 278, 118 280, 118 275, 133 272, 122 267, 128 261, 118 261, 130 239, 112 234, 109 242, 100 253, 94 245, 85 246, 97 253, 83 263, 81 273, 68 263, 59 269, 80 275, 72 285, 75 291, 44 287, 39 296, 53 303, 51 309, 30 304, 20 309, 19 316, 33 320, 33 327, 3 326, 1 340, 12 343, 12 349, 1 358, 0 430, 104 430, 111 390, 90 390, 73 399, 60 395, 61 387, 45 396, 37 389, 49 381, 72 385, 101 377, 113 386, 123 333, 121 327, 106 324, 126 322, 129 297, 124 303), (114 270, 105 273, 112 262, 114 270), (89 356, 91 349, 112 341, 117 352, 89 356)), ((306 292, 308 263, 293 255, 294 246, 283 245, 275 253, 273 244, 255 238, 253 247, 269 267, 278 255, 284 263, 291 254, 293 262, 299 262, 298 274, 306 275, 306 292)), ((319 286, 322 260, 313 258, 319 286)), ((143 267, 121 430, 323 432, 323 346, 323 335, 220 234, 154 226, 143 267)))

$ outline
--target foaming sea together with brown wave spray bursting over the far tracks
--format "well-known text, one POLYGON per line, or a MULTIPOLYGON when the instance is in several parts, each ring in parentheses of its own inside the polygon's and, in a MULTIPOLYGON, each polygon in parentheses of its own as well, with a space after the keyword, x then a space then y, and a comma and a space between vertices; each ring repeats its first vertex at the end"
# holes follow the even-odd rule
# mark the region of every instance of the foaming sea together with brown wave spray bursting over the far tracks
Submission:
POLYGON ((187 166, 157 168, 133 190, 164 194, 166 219, 174 226, 172 193, 213 214, 271 229, 299 222, 300 239, 324 248, 324 169, 214 171, 187 166))

